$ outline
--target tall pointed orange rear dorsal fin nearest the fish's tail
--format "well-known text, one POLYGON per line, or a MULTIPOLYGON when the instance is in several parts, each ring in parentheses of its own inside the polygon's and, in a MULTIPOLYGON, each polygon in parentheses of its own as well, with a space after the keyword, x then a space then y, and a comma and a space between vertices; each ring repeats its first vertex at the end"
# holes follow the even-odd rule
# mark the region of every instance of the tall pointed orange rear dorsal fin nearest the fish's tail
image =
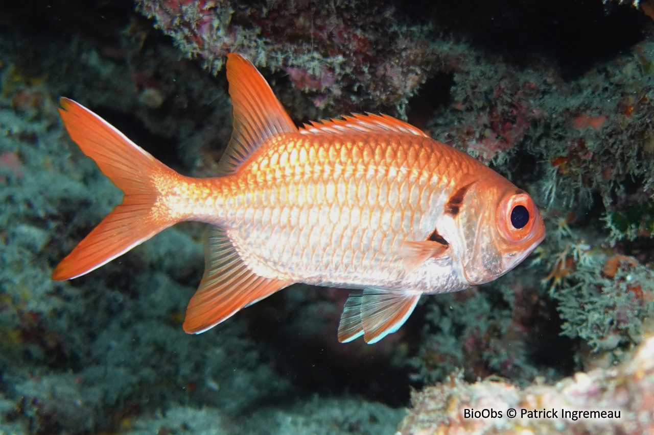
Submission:
POLYGON ((245 57, 227 55, 227 80, 232 97, 233 131, 232 140, 218 163, 218 175, 235 172, 267 138, 298 131, 266 79, 245 57))

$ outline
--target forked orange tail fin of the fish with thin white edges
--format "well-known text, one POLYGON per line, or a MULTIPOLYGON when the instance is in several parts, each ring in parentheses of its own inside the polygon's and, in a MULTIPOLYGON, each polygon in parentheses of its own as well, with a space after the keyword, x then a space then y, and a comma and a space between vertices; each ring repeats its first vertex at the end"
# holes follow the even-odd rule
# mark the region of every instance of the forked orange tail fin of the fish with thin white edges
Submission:
POLYGON ((160 200, 157 183, 181 177, 84 106, 67 98, 60 104, 71 138, 125 195, 55 268, 52 279, 58 281, 86 274, 179 221, 155 204, 160 200))

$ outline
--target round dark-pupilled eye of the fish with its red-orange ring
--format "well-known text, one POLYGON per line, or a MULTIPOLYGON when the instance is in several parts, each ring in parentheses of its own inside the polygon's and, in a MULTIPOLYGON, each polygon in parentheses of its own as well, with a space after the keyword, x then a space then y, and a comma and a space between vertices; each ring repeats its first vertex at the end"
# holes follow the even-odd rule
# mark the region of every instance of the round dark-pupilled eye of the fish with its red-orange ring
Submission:
POLYGON ((510 191, 500 201, 498 227, 509 242, 518 243, 532 234, 538 220, 536 216, 538 210, 529 195, 521 190, 510 191))

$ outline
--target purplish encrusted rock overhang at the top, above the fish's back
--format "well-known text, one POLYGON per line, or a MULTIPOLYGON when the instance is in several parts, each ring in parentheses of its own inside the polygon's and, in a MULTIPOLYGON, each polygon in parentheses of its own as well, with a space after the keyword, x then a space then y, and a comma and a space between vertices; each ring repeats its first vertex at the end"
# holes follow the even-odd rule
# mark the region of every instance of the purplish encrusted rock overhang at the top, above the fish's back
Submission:
POLYGON ((394 7, 339 0, 265 5, 207 0, 139 0, 182 52, 209 71, 239 52, 255 65, 284 71, 320 109, 393 108, 404 114, 424 82, 434 52, 424 25, 403 24, 394 7))

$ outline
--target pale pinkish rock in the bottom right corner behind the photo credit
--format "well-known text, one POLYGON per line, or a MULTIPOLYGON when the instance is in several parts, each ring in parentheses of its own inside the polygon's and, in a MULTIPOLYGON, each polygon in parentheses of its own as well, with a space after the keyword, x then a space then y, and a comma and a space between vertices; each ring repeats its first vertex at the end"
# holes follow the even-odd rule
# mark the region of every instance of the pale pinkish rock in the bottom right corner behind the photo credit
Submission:
POLYGON ((654 430, 654 337, 633 359, 579 372, 555 385, 519 389, 460 373, 415 392, 398 434, 649 434, 654 430), (515 411, 515 414, 511 413, 515 411))

